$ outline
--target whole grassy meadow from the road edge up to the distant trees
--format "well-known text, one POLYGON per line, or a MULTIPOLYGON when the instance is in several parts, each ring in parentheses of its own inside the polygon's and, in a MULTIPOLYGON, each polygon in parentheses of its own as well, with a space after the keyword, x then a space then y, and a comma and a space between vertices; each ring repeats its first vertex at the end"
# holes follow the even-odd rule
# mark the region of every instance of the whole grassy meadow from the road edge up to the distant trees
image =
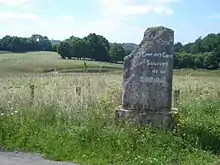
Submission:
MULTIPOLYGON (((10 58, 14 55, 9 53, 10 58)), ((102 65, 112 71, 80 73, 74 69, 83 70, 83 61, 61 60, 54 53, 44 57, 42 52, 19 56, 22 65, 0 62, 0 146, 5 150, 95 165, 218 164, 219 71, 174 71, 173 89, 181 92, 176 106, 179 126, 164 131, 115 126, 114 112, 121 104, 121 65, 91 61, 91 68, 102 65), (33 58, 31 65, 23 65, 33 58), (43 73, 48 69, 72 72, 43 73)))

